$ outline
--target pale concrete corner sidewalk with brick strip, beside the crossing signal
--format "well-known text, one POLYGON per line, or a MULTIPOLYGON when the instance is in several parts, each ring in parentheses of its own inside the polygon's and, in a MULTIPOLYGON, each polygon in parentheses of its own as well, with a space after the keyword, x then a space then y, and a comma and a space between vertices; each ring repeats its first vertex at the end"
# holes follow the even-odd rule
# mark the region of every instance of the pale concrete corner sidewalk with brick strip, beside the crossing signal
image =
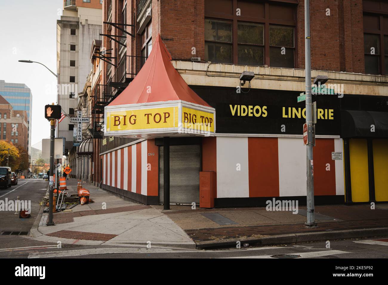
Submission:
MULTIPOLYGON (((77 193, 77 180, 66 182, 68 192, 77 193)), ((83 188, 90 191, 94 203, 78 204, 72 212, 54 213, 54 226, 46 226, 48 213, 41 213, 31 229, 31 238, 62 244, 195 249, 184 230, 153 207, 128 202, 85 183, 83 188)))

